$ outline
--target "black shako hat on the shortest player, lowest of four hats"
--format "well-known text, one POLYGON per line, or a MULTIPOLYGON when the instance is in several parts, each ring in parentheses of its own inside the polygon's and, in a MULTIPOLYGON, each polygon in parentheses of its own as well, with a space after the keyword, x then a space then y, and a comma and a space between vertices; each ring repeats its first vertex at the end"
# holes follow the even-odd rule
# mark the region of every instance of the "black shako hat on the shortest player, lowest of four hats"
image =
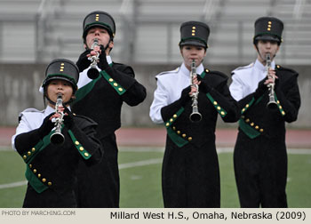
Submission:
POLYGON ((45 79, 42 87, 45 88, 47 84, 53 79, 62 79, 68 81, 73 88, 73 92, 77 90, 77 81, 79 79, 79 68, 71 60, 56 59, 47 66, 45 70, 45 79))

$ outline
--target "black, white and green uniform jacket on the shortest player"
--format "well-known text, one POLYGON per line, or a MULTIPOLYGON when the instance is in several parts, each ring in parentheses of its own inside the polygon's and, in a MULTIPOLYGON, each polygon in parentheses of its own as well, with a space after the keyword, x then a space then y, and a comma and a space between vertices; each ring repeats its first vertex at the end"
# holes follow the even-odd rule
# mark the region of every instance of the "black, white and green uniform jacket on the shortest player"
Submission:
POLYGON ((17 132, 12 137, 12 147, 27 164, 26 178, 37 193, 50 188, 61 195, 74 188, 79 161, 96 164, 100 162, 103 152, 100 141, 94 137, 97 124, 85 116, 74 116, 70 129, 63 126, 65 142, 61 146, 52 145, 50 136, 53 130, 43 139, 37 138, 37 128, 52 112, 54 109, 49 106, 43 111, 31 109, 22 112, 17 132), (28 134, 29 138, 31 135, 33 141, 15 142, 20 134, 28 134))

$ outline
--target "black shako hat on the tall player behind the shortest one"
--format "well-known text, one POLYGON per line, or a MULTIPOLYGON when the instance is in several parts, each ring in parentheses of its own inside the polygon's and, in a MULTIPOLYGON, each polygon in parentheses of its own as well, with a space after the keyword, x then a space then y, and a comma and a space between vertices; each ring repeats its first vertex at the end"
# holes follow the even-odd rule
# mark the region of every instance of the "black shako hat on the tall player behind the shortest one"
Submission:
POLYGON ((108 12, 94 11, 85 16, 83 34, 84 40, 89 29, 94 27, 107 29, 111 39, 116 36, 116 23, 114 18, 112 18, 108 12))

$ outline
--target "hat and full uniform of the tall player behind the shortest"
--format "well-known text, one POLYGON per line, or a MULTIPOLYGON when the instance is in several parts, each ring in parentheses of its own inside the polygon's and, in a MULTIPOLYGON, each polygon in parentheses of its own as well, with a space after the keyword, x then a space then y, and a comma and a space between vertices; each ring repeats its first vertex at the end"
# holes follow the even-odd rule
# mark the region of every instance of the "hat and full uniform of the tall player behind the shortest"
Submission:
MULTIPOLYGON (((100 27, 108 30, 110 41, 116 34, 114 19, 107 12, 91 12, 84 19, 84 43, 90 28, 100 27)), ((82 53, 76 65, 80 69, 80 79, 73 111, 92 118, 97 122, 97 138, 105 148, 100 164, 90 168, 81 163, 77 195, 79 207, 118 207, 119 170, 117 164, 118 148, 115 132, 121 126, 121 108, 125 102, 136 106, 146 98, 146 89, 136 81, 130 66, 115 63, 106 56, 104 49, 100 54, 97 78, 87 76, 91 61, 82 53)))

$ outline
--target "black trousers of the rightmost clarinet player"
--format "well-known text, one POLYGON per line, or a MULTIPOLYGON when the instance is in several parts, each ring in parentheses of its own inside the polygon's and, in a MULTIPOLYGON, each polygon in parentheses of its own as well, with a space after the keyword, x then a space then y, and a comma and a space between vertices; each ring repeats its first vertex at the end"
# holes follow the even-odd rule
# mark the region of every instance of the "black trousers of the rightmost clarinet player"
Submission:
POLYGON ((239 132, 234 152, 235 181, 243 208, 286 208, 285 143, 239 132))

